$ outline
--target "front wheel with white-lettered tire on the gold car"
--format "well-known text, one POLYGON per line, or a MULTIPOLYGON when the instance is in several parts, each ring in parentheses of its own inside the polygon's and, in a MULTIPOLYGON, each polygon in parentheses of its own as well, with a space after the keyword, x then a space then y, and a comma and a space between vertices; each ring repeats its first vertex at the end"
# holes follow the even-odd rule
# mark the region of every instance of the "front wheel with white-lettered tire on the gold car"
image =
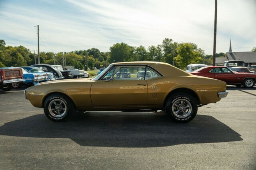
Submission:
POLYGON ((51 121, 65 121, 73 111, 73 102, 63 94, 52 94, 44 102, 44 114, 51 121))

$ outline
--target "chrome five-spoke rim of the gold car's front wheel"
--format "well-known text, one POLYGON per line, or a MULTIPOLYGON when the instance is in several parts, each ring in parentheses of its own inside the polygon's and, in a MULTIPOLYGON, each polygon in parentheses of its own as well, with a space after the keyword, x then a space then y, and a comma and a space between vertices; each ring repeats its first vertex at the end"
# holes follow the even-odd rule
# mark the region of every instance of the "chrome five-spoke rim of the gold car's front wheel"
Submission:
POLYGON ((62 117, 67 113, 67 105, 61 99, 54 99, 48 106, 49 112, 53 117, 62 117))

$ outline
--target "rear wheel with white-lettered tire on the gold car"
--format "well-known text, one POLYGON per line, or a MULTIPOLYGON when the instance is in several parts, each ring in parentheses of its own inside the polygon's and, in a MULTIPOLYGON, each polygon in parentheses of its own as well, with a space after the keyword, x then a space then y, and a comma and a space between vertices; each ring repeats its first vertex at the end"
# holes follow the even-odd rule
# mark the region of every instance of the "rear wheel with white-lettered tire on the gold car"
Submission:
POLYGON ((166 113, 179 123, 191 121, 197 113, 196 100, 187 93, 173 94, 166 102, 166 113))

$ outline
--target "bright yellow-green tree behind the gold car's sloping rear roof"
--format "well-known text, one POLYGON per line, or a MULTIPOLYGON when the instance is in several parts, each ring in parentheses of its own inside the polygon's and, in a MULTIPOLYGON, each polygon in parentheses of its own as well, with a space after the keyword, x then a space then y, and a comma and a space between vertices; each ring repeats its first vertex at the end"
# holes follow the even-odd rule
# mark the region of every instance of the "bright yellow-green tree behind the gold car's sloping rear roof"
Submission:
POLYGON ((204 51, 195 43, 180 43, 174 58, 179 68, 186 68, 188 64, 199 63, 204 57, 204 51))

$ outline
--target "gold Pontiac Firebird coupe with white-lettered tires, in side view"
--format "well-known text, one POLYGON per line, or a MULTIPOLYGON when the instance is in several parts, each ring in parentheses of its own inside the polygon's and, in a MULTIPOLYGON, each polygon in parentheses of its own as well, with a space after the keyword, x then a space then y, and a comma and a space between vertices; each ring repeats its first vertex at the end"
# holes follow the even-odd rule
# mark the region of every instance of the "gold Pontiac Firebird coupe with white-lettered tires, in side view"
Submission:
POLYGON ((24 90, 35 107, 52 121, 64 121, 76 110, 156 111, 165 109, 177 122, 192 120, 200 106, 227 96, 226 83, 194 76, 167 63, 112 63, 88 79, 43 82, 24 90), (136 74, 144 68, 144 74, 136 74), (128 69, 131 76, 122 76, 128 69))

